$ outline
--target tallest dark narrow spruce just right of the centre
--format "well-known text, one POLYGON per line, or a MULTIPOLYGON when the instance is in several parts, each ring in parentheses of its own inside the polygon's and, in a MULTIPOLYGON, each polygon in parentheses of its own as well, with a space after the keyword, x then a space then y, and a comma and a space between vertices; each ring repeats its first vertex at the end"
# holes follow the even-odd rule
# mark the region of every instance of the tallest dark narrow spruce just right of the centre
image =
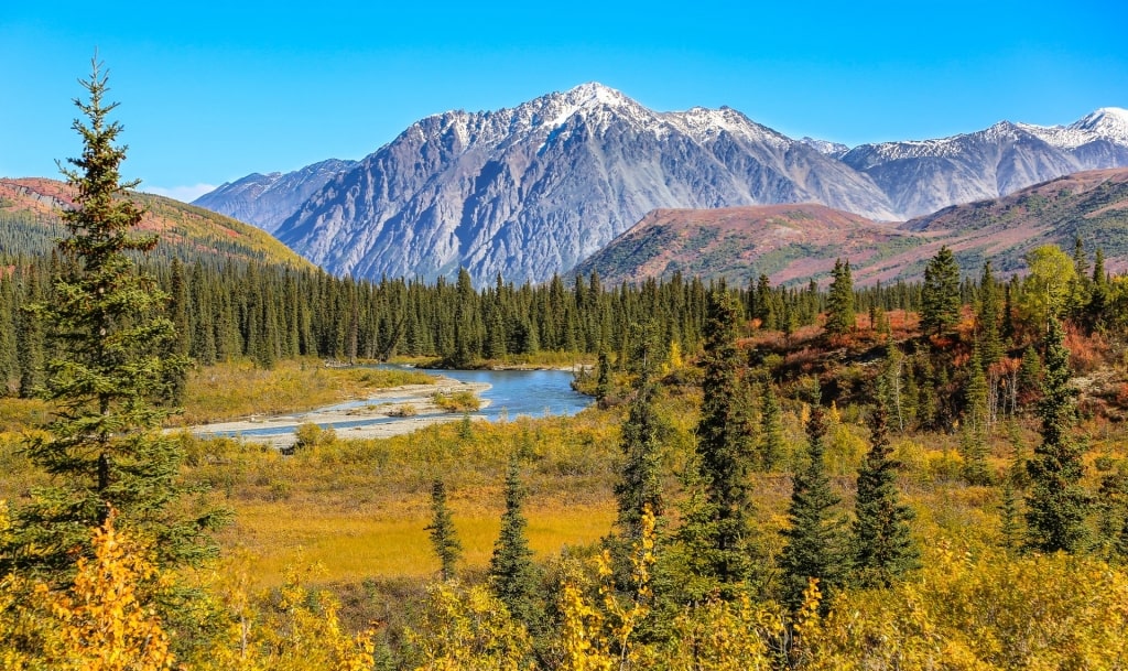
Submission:
POLYGON ((739 379, 737 308, 723 289, 708 298, 703 362, 697 459, 707 505, 703 519, 708 519, 705 570, 723 594, 732 595, 751 574, 748 473, 752 441, 739 379))

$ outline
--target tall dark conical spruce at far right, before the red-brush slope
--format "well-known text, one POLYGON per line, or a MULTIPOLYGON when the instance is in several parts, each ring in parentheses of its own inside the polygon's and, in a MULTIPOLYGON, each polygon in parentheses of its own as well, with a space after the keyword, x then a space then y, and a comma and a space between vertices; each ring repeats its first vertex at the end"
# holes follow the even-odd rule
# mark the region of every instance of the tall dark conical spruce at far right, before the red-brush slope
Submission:
POLYGON ((1051 318, 1046 336, 1042 399, 1038 404, 1042 442, 1026 462, 1031 483, 1026 497, 1028 545, 1046 553, 1074 553, 1084 546, 1090 505, 1081 486, 1083 450, 1070 435, 1076 408, 1064 339, 1061 324, 1051 318))

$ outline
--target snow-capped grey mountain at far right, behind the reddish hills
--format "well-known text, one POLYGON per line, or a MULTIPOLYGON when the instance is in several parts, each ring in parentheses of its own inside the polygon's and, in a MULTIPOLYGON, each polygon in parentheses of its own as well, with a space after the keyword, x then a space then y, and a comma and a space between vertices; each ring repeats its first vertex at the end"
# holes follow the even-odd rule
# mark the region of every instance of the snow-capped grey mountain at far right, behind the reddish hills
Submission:
POLYGON ((1128 166, 1128 111, 1068 126, 999 122, 938 140, 862 144, 841 160, 870 177, 904 218, 1014 193, 1081 170, 1128 166))

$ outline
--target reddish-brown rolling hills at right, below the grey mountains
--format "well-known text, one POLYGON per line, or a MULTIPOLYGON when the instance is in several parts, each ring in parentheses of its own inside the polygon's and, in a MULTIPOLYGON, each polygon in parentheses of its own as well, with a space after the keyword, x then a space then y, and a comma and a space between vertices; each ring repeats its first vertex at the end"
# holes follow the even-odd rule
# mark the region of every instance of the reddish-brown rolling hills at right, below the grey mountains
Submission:
POLYGON ((836 258, 848 258, 856 283, 919 280, 942 245, 975 275, 985 259, 1022 273, 1023 255, 1045 244, 1072 253, 1081 236, 1100 247, 1110 271, 1128 268, 1128 169, 1060 177, 1003 198, 954 205, 897 229, 821 205, 724 210, 659 210, 579 266, 605 283, 675 272, 747 283, 827 281, 836 258))

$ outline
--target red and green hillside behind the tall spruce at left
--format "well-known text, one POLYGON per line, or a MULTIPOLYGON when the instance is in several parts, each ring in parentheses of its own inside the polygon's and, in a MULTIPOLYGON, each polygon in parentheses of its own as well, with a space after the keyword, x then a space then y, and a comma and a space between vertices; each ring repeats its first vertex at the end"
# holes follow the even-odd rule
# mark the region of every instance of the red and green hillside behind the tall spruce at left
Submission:
MULTIPOLYGON (((146 210, 141 231, 160 235, 158 255, 310 265, 250 224, 164 196, 135 193, 133 198, 146 210)), ((51 249, 53 240, 64 232, 58 213, 70 205, 71 194, 62 182, 0 179, 0 255, 51 249)))

